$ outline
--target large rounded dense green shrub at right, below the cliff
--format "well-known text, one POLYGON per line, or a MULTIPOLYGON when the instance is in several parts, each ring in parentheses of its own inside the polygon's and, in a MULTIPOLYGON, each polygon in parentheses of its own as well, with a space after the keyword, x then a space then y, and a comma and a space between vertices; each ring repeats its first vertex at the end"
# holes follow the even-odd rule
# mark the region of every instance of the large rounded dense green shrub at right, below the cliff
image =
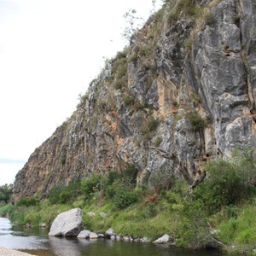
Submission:
MULTIPOLYGON (((208 177, 195 188, 195 197, 203 202, 211 214, 221 207, 236 205, 247 200, 251 191, 246 173, 237 163, 218 160, 207 164, 208 177)), ((235 213, 233 213, 235 214, 235 213)))

